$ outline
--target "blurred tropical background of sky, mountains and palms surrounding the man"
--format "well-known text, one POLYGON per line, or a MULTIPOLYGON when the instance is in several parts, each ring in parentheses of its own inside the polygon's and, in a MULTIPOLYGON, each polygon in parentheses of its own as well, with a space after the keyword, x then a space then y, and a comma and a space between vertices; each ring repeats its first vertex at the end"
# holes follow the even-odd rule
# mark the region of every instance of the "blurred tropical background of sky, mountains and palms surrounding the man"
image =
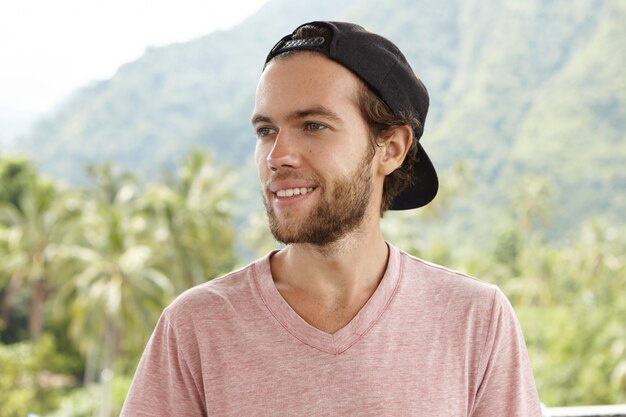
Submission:
POLYGON ((440 195, 386 238, 504 290, 546 405, 626 402, 626 2, 227 3, 0 4, 0 417, 117 415, 162 309, 277 247, 249 119, 311 20, 429 89, 440 195))

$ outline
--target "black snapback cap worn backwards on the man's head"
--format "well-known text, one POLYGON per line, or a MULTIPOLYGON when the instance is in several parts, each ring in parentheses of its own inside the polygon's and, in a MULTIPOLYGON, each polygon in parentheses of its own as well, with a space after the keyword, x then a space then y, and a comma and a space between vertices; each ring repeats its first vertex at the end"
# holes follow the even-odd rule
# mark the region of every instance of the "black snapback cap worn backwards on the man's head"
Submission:
POLYGON ((359 25, 345 22, 310 22, 298 26, 272 48, 265 60, 290 51, 317 51, 343 65, 361 78, 395 115, 412 114, 421 126, 413 129, 418 141, 413 164, 413 182, 391 203, 391 210, 408 210, 425 206, 437 195, 439 181, 435 168, 419 139, 428 113, 428 92, 415 75, 398 47, 388 39, 368 32, 359 25), (293 39, 302 26, 330 29, 329 42, 323 37, 293 39))

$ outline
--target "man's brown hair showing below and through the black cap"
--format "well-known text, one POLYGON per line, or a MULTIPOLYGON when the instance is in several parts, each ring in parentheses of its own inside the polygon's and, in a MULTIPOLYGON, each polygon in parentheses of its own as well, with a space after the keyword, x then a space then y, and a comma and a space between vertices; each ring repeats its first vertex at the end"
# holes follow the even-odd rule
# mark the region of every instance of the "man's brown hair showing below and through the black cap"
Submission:
MULTIPOLYGON (((329 43, 332 37, 330 29, 320 26, 302 26, 292 36, 292 39, 305 39, 312 37, 323 37, 329 43)), ((286 52, 279 57, 291 55, 301 51, 286 52)), ((369 139, 372 149, 372 156, 376 148, 384 143, 394 128, 408 125, 413 133, 409 151, 404 162, 398 169, 385 177, 383 185, 383 197, 380 205, 380 214, 389 209, 393 199, 413 182, 412 170, 417 153, 417 140, 421 137, 423 126, 418 118, 412 114, 394 114, 389 106, 369 88, 361 78, 357 76, 360 87, 357 91, 356 99, 359 109, 369 126, 369 139)))

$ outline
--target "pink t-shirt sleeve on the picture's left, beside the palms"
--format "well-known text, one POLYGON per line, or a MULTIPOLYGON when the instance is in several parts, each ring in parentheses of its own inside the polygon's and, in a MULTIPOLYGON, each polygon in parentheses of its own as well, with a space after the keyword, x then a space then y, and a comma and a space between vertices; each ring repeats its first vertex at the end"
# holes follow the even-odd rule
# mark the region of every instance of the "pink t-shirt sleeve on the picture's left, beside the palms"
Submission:
POLYGON ((164 313, 139 361, 121 417, 206 416, 201 372, 164 313))

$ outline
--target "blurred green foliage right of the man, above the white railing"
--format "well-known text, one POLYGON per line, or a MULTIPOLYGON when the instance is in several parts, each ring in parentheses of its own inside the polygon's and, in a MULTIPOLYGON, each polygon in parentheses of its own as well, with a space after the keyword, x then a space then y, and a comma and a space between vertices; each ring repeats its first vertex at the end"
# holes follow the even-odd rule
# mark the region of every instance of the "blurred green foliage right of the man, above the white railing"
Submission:
POLYGON ((548 405, 626 401, 624 232, 590 221, 573 242, 557 246, 510 224, 491 253, 461 262, 511 300, 548 405))

